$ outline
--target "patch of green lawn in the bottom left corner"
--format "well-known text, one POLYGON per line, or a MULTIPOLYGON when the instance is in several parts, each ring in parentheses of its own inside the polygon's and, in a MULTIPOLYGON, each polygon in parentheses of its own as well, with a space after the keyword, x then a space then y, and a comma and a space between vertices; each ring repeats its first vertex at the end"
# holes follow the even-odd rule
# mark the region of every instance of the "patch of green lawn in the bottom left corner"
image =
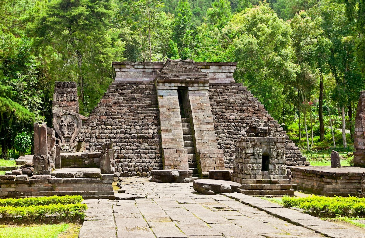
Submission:
POLYGON ((0 225, 0 238, 57 238, 68 227, 67 223, 30 226, 0 225))

